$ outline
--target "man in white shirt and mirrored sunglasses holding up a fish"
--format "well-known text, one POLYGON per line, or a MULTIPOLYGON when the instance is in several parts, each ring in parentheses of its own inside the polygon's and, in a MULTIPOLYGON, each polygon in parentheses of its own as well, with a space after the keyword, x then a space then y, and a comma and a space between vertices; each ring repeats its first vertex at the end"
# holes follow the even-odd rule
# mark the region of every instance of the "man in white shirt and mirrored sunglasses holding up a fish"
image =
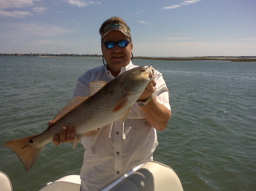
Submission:
MULTIPOLYGON (((137 67, 131 62, 133 43, 130 28, 118 17, 106 20, 101 28, 101 50, 106 66, 86 71, 76 86, 75 96, 89 96, 92 81, 109 82, 126 70, 137 67)), ((104 64, 105 65, 105 64, 104 64)), ((158 145, 156 130, 164 130, 171 117, 166 83, 158 71, 148 83, 125 122, 114 121, 89 131, 82 138, 85 147, 81 168, 82 190, 99 190, 129 169, 153 159, 158 145)), ((100 119, 99 119, 100 120, 100 119)), ((59 145, 75 138, 75 127, 63 128, 53 143, 59 145)))

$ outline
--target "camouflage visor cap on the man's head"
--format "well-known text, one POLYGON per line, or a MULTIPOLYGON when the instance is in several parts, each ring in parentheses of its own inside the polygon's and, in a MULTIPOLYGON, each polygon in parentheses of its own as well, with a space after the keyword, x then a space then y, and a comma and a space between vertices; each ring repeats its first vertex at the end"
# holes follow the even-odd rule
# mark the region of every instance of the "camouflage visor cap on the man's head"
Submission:
POLYGON ((109 23, 107 24, 102 33, 101 33, 101 40, 110 32, 110 31, 121 31, 125 36, 130 37, 131 38, 131 31, 130 28, 123 24, 123 23, 119 23, 119 22, 114 22, 114 23, 109 23))

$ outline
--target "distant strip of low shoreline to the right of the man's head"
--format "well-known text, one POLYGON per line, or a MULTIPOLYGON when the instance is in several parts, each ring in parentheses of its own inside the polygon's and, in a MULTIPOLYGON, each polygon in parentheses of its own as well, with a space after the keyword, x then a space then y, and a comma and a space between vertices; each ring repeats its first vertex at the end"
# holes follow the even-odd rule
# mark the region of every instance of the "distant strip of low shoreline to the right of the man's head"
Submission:
POLYGON ((256 57, 134 57, 133 59, 165 61, 216 60, 231 62, 256 62, 256 57))

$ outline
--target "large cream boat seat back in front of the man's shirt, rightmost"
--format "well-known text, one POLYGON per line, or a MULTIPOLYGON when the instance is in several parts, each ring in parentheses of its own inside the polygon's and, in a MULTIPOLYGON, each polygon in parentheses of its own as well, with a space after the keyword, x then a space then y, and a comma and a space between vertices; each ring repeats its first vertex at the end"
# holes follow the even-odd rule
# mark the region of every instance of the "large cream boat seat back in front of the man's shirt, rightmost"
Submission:
POLYGON ((179 177, 171 167, 147 162, 109 191, 183 191, 179 177))

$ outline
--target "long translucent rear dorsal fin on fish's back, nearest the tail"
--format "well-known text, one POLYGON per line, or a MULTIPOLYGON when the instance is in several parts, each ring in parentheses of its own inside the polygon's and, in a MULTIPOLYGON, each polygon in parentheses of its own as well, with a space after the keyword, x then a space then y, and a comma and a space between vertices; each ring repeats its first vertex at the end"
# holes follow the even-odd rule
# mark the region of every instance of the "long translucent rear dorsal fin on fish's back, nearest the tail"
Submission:
MULTIPOLYGON (((74 97, 71 101, 69 101, 69 103, 67 103, 67 105, 64 106, 64 108, 62 108, 59 113, 57 113, 57 115, 55 116, 55 118, 52 120, 51 124, 49 126, 51 126, 52 124, 54 124, 57 120, 59 120, 61 117, 65 116, 65 114, 67 114, 68 112, 72 111, 73 109, 75 109, 77 106, 79 106, 82 102, 84 102, 86 99, 88 99, 88 97, 81 97, 81 96, 77 96, 74 97)), ((48 126, 48 128, 49 128, 48 126)))

